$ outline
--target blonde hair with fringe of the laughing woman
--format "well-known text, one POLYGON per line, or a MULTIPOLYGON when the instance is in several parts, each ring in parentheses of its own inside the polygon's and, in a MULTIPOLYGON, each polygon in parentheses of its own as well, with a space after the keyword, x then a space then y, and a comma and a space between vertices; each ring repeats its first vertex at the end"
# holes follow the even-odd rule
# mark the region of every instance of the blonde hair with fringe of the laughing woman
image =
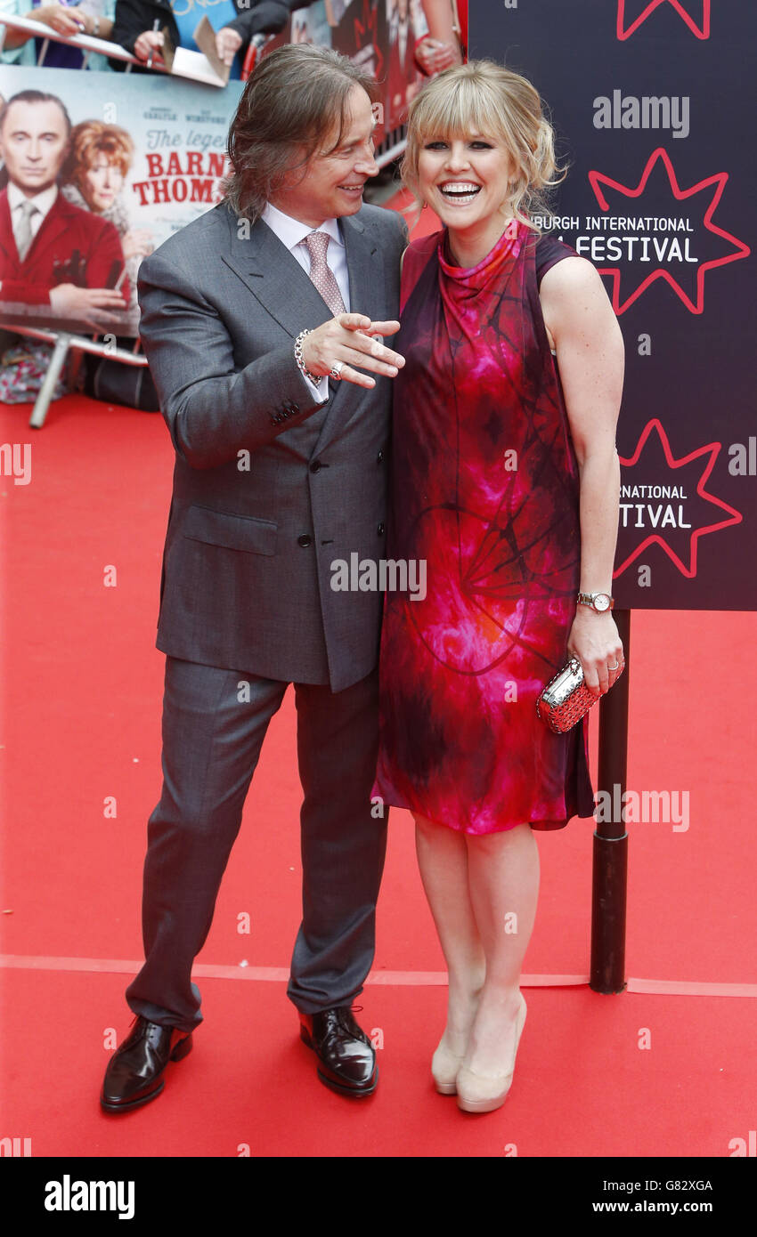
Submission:
POLYGON ((515 163, 507 207, 516 219, 539 231, 532 215, 549 215, 545 192, 565 169, 554 155, 554 131, 538 90, 520 73, 494 61, 469 61, 432 78, 408 109, 402 179, 421 202, 418 160, 430 140, 449 141, 476 132, 502 141, 515 163))

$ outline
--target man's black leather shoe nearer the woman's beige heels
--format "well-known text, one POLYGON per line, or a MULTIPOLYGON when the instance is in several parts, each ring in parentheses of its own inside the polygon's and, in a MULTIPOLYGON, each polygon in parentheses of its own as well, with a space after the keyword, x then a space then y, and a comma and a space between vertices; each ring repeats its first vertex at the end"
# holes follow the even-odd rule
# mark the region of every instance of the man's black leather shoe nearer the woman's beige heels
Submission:
POLYGON ((318 1058, 318 1077, 340 1095, 372 1095, 378 1084, 374 1045, 350 1006, 299 1014, 299 1038, 318 1058))

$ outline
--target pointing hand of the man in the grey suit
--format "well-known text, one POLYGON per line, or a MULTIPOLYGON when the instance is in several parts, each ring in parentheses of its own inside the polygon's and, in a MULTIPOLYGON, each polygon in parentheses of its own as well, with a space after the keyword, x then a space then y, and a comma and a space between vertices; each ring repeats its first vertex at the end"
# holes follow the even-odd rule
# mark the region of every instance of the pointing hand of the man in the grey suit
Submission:
POLYGON ((393 379, 404 365, 404 357, 386 348, 378 338, 396 335, 398 330, 398 322, 371 322, 361 313, 340 313, 306 335, 302 357, 309 372, 318 377, 330 374, 335 362, 341 361, 340 377, 345 382, 370 388, 376 386, 370 374, 393 379), (356 366, 369 374, 361 374, 356 366))

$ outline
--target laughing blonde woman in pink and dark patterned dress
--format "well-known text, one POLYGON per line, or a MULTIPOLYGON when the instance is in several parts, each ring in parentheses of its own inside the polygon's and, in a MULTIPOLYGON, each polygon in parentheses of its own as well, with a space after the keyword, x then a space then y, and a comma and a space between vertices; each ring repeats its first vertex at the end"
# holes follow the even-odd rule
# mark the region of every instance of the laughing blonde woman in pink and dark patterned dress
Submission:
POLYGON ((522 77, 480 61, 411 105, 406 184, 444 228, 404 255, 396 349, 375 794, 409 808, 449 972, 437 1089, 470 1112, 510 1089, 539 861, 536 830, 592 814, 585 721, 537 717, 576 656, 607 691, 623 348, 586 260, 541 236, 553 132, 522 77), (423 584, 423 586, 421 586, 423 584))

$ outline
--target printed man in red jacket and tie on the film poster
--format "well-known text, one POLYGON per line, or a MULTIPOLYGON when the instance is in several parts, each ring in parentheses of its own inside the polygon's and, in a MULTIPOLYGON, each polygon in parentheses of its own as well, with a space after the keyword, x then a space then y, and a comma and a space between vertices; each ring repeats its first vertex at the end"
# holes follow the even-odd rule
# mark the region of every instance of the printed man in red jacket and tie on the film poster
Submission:
POLYGON ((122 322, 129 282, 114 225, 58 192, 69 135, 68 113, 54 94, 21 90, 0 109, 9 177, 0 193, 0 303, 24 307, 25 317, 101 332, 122 322))

